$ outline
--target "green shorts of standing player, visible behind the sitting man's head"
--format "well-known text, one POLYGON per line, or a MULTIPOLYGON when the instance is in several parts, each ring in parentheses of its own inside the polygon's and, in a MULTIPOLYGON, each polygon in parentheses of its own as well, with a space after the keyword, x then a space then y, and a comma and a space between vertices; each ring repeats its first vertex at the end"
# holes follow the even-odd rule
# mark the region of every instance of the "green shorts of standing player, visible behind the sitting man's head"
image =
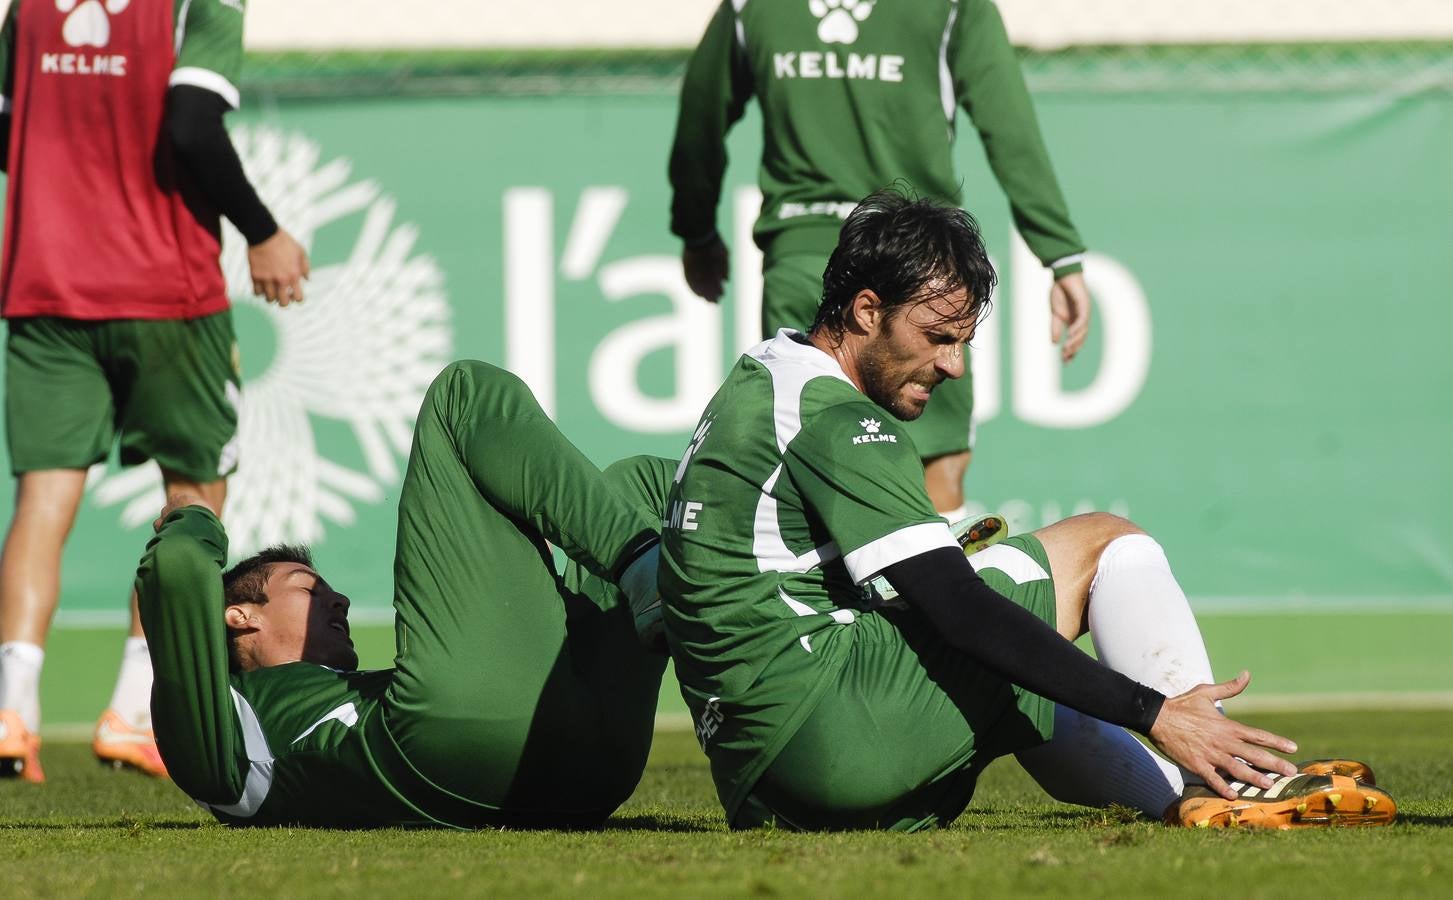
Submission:
MULTIPOLYGON (((812 327, 822 301, 824 268, 827 256, 817 253, 767 256, 761 272, 764 337, 772 337, 777 329, 806 332, 812 327)), ((934 388, 923 416, 904 426, 924 459, 974 449, 969 425, 974 414, 974 374, 968 358, 963 366, 963 378, 944 381, 934 388)))

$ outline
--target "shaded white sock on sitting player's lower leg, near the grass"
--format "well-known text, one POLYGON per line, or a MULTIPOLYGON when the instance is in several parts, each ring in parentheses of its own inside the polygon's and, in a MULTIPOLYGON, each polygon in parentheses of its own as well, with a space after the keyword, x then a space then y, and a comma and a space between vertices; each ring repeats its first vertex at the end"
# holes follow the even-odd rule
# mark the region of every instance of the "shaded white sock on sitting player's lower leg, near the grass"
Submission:
POLYGON ((1055 707, 1055 737, 1014 755, 1030 778, 1061 803, 1119 804, 1159 819, 1180 798, 1181 771, 1129 731, 1055 707))

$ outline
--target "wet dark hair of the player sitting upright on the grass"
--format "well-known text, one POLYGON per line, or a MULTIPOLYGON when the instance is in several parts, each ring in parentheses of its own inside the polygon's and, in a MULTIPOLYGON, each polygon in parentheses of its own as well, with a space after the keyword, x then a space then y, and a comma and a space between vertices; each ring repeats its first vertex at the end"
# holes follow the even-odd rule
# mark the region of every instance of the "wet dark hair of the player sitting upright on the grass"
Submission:
POLYGON ((994 266, 972 215, 894 185, 860 202, 837 237, 822 272, 822 302, 812 330, 841 337, 853 298, 872 291, 885 311, 963 288, 968 307, 949 318, 968 323, 988 313, 994 266), (927 297, 924 291, 931 291, 927 297))

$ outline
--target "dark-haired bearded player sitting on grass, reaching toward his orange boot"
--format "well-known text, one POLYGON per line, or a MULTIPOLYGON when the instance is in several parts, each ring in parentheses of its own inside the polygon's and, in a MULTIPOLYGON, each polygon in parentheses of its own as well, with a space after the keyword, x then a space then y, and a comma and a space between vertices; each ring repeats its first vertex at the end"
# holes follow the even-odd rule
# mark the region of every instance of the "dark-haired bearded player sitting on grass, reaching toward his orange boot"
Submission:
POLYGON ((963 374, 994 281, 965 212, 875 193, 812 332, 748 350, 702 416, 660 584, 728 821, 947 823, 1005 753, 1058 800, 1186 824, 1389 821, 1356 763, 1299 775, 1271 753, 1290 740, 1221 712, 1250 676, 1210 683, 1186 596, 1130 522, 1075 516, 965 558, 889 413, 914 419, 963 374), (1087 630, 1100 662, 1065 640, 1087 630))

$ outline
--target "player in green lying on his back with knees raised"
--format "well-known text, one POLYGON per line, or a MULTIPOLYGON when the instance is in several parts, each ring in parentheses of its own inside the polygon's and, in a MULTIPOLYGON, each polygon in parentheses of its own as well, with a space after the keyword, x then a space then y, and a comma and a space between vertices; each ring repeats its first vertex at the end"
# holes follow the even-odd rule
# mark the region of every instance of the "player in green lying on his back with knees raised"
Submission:
POLYGON ((137 576, 171 778, 230 824, 600 824, 651 747, 665 657, 622 589, 657 602, 670 467, 600 473, 517 378, 448 366, 414 429, 397 657, 375 672, 305 551, 224 576, 221 522, 179 497, 137 576), (546 541, 575 560, 564 576, 546 541))

